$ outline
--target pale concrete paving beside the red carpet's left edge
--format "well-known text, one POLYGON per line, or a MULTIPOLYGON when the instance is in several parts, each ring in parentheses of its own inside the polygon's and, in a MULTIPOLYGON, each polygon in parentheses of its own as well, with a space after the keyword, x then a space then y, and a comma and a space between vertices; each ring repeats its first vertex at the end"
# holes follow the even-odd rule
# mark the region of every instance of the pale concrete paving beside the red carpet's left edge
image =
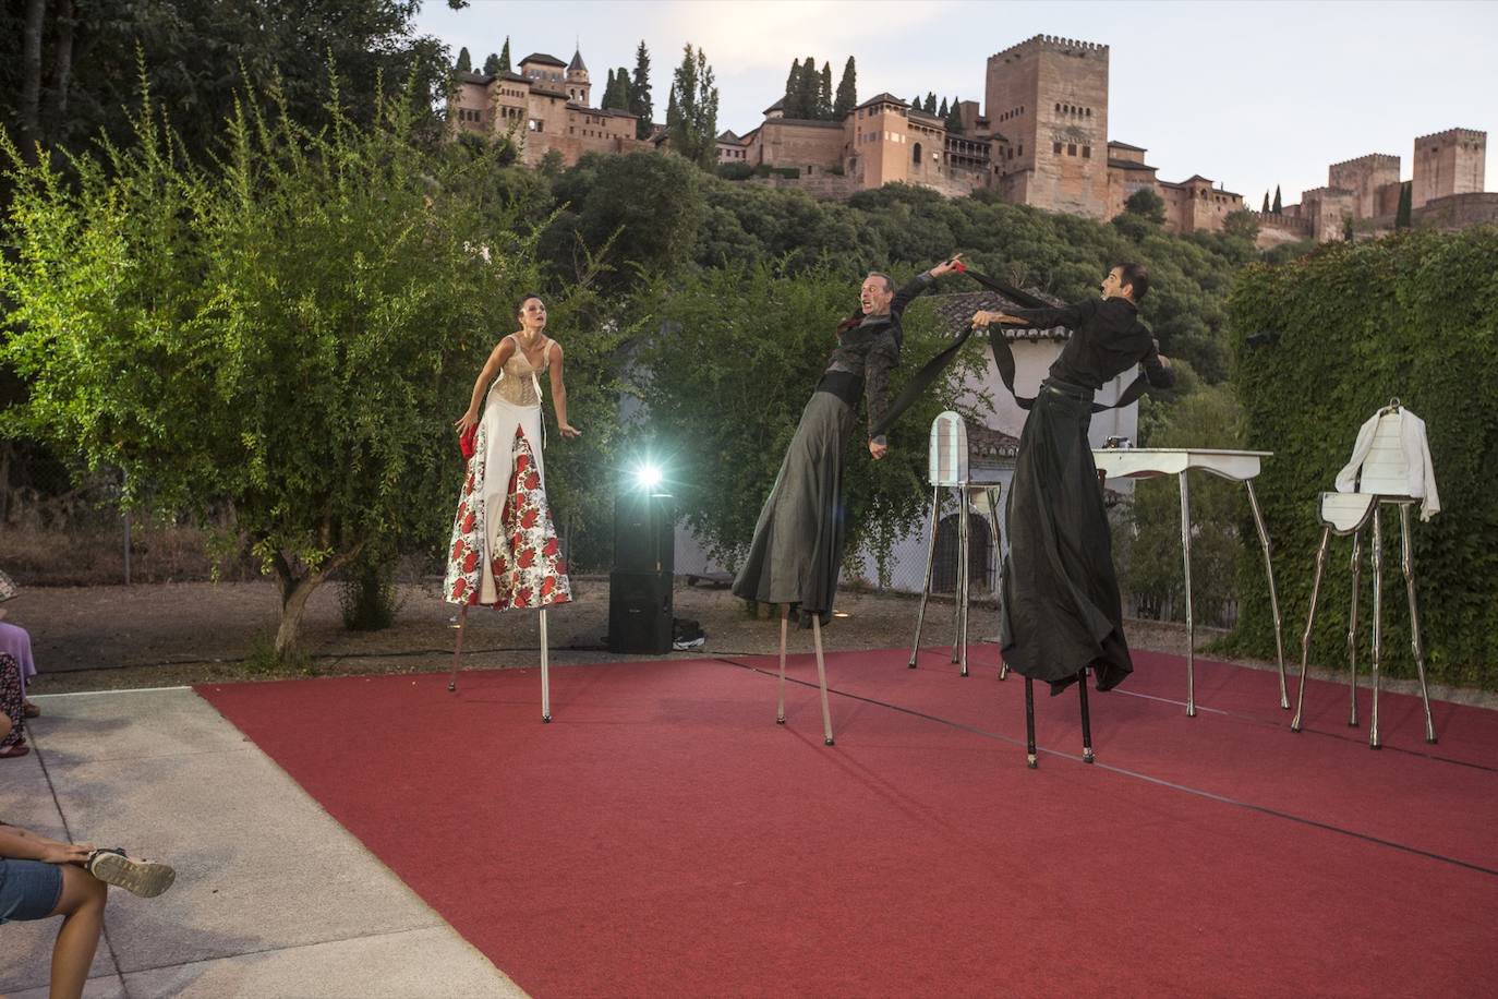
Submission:
MULTIPOLYGON (((0 816, 177 867, 111 891, 85 996, 524 995, 190 689, 36 702, 0 816)), ((57 926, 0 927, 0 993, 46 995, 57 926)))

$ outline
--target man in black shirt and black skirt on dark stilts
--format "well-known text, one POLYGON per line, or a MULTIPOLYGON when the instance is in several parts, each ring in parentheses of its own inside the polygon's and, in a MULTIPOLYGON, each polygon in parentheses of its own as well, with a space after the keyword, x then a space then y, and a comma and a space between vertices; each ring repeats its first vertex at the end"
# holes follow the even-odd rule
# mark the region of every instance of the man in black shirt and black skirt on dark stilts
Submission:
MULTIPOLYGON (((1107 690, 1134 669, 1088 425, 1094 392, 1135 364, 1150 385, 1168 388, 1176 380, 1138 321, 1147 289, 1144 268, 1124 264, 1103 280, 1103 298, 972 318, 975 327, 999 322, 1073 331, 1025 421, 1007 506, 1010 556, 1001 581, 999 644, 1005 665, 1026 678, 1032 767, 1032 680, 1046 680, 1059 693, 1079 678, 1085 683, 1085 671, 1092 669, 1098 690, 1107 690)), ((1086 719, 1085 698, 1083 689, 1086 719)), ((1091 762, 1091 732, 1085 737, 1091 762)))

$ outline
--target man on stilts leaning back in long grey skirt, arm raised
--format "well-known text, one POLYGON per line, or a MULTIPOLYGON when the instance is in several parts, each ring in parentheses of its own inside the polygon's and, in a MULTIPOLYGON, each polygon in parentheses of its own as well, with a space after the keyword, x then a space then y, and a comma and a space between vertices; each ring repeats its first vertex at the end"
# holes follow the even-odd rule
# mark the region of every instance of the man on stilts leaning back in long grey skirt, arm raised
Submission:
MULTIPOLYGON (((833 723, 827 705, 821 629, 831 620, 846 536, 843 445, 854 436, 854 410, 860 395, 867 403, 870 428, 884 416, 890 371, 900 362, 905 338, 900 316, 935 279, 956 270, 959 256, 920 274, 899 292, 887 274, 873 273, 864 279, 858 292, 860 307, 837 327, 837 346, 801 412, 774 487, 759 512, 749 554, 734 580, 736 596, 780 605, 780 701, 776 714, 780 725, 785 723, 785 641, 791 604, 800 607, 803 626, 810 623, 822 696, 822 735, 828 746, 833 744, 833 723)), ((882 433, 866 440, 875 461, 888 452, 882 433)))

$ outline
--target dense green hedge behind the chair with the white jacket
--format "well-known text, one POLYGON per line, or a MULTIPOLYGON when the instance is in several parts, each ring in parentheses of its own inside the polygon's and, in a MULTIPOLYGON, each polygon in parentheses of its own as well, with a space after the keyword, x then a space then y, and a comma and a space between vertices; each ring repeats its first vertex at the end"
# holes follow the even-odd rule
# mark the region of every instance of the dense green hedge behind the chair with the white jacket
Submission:
MULTIPOLYGON (((1333 488, 1357 428, 1390 397, 1425 419, 1441 512, 1411 511, 1428 675, 1498 686, 1498 228, 1333 244, 1245 268, 1228 300, 1249 448, 1273 451, 1257 488, 1275 542, 1287 658, 1299 661, 1315 550, 1317 496, 1333 488), (1273 331, 1278 340, 1249 346, 1273 331)), ((1230 646, 1273 655, 1252 521, 1239 562, 1242 617, 1230 646)), ((1372 569, 1363 544, 1359 669, 1366 671, 1372 569)), ((1311 658, 1345 665, 1351 538, 1332 539, 1311 658)), ((1384 514, 1384 664, 1414 675, 1399 518, 1384 514)))

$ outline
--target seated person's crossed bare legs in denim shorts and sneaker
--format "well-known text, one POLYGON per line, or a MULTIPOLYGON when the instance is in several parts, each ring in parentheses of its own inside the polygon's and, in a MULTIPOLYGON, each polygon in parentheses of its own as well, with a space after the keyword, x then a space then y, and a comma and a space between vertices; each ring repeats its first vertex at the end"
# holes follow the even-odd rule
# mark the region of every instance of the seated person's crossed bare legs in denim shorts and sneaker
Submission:
POLYGON ((175 878, 166 864, 135 860, 123 849, 63 843, 0 822, 0 924, 63 917, 52 945, 52 999, 84 995, 108 885, 153 899, 175 878))

